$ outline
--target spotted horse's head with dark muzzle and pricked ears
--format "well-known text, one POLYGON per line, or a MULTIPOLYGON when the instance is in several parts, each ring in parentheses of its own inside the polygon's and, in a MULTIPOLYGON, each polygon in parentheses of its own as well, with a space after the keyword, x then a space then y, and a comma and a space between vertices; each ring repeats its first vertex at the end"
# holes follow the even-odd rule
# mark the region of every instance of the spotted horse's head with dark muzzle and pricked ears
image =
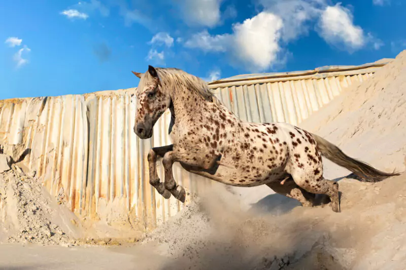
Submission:
POLYGON ((138 73, 132 71, 140 83, 137 88, 137 113, 134 132, 140 139, 152 137, 156 121, 170 106, 171 96, 164 91, 158 73, 153 66, 148 66, 148 71, 138 73))

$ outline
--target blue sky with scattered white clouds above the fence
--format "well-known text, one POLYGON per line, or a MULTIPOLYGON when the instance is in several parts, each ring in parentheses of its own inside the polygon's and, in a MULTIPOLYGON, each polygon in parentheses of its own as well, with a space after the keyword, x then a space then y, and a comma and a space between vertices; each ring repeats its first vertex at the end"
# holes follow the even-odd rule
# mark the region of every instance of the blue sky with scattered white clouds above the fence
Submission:
POLYGON ((403 0, 2 0, 0 99, 359 65, 406 49, 403 0), (403 2, 403 3, 402 3, 403 2))

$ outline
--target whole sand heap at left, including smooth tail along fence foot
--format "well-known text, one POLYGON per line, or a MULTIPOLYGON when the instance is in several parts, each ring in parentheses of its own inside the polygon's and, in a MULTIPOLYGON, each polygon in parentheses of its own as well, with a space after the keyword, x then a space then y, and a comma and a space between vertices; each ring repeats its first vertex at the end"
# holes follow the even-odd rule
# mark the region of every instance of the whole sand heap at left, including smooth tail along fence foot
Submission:
POLYGON ((80 219, 25 169, 0 153, 0 244, 120 246, 139 241, 142 232, 128 225, 80 219))

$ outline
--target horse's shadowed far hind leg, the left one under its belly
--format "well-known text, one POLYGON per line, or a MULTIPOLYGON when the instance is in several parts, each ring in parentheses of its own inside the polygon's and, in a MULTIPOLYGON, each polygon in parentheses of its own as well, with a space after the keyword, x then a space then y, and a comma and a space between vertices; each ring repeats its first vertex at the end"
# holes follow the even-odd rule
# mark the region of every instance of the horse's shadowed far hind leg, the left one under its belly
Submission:
POLYGON ((279 181, 266 184, 280 195, 297 200, 303 207, 312 207, 315 195, 299 187, 290 177, 282 184, 279 181))

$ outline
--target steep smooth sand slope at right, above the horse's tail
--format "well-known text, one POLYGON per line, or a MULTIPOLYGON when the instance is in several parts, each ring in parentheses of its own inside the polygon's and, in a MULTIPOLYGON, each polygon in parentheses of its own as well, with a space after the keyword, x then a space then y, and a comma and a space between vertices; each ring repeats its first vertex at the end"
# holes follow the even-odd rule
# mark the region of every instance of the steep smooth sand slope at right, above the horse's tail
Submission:
POLYGON ((381 170, 402 171, 406 153, 405 113, 406 51, 403 51, 373 78, 346 90, 300 127, 381 170))

